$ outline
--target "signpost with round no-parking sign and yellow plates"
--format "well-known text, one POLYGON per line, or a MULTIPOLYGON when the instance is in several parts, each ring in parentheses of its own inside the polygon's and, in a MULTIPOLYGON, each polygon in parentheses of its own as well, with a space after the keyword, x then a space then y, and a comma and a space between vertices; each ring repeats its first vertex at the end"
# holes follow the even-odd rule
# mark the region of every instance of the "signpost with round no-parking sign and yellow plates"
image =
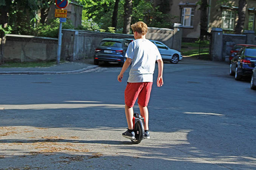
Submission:
POLYGON ((58 50, 57 50, 57 64, 60 64, 60 53, 62 43, 62 23, 66 22, 67 10, 63 9, 68 6, 68 0, 55 0, 56 6, 60 9, 55 9, 55 17, 60 18, 58 50))

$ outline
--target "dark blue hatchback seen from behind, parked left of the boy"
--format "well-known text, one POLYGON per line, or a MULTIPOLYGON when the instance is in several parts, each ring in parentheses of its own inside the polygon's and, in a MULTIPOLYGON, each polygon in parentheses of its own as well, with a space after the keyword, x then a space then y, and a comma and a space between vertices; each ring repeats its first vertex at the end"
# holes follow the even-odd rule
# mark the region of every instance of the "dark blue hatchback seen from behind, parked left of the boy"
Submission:
POLYGON ((124 39, 104 38, 99 46, 95 49, 94 64, 99 65, 103 62, 118 62, 121 66, 125 62, 125 53, 128 42, 124 39))

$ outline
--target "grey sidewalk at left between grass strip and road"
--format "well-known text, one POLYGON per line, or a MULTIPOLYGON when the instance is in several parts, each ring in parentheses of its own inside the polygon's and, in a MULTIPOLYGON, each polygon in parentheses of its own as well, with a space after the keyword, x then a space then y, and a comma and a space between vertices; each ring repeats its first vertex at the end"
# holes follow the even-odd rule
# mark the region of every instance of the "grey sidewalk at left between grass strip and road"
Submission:
POLYGON ((0 74, 68 74, 80 73, 98 65, 93 65, 91 59, 88 61, 65 62, 52 67, 26 67, 26 68, 0 68, 0 74))

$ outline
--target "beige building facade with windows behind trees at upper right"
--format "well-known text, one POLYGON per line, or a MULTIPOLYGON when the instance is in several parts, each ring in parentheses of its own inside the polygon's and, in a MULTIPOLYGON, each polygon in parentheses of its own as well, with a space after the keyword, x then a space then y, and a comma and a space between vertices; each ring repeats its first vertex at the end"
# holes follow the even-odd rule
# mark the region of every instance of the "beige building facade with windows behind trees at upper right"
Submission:
MULTIPOLYGON (((156 0, 160 2, 160 0, 156 0)), ((181 23, 184 38, 199 38, 200 35, 200 5, 198 0, 170 0, 171 16, 174 16, 174 23, 181 23)), ((208 0, 208 32, 213 27, 219 27, 224 33, 234 33, 238 20, 239 0, 230 0, 223 3, 219 0, 208 0)), ((244 30, 256 31, 256 0, 247 0, 244 30)))

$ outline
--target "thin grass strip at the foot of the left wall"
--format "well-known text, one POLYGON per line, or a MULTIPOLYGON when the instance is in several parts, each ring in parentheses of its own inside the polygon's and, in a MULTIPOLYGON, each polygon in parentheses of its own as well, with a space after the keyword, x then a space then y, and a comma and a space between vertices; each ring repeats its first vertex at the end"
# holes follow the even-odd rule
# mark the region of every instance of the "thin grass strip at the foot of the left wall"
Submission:
MULTIPOLYGON (((64 63, 65 61, 60 61, 64 63)), ((40 62, 6 62, 0 65, 0 68, 11 68, 11 67, 51 67, 56 65, 56 61, 40 61, 40 62)))

